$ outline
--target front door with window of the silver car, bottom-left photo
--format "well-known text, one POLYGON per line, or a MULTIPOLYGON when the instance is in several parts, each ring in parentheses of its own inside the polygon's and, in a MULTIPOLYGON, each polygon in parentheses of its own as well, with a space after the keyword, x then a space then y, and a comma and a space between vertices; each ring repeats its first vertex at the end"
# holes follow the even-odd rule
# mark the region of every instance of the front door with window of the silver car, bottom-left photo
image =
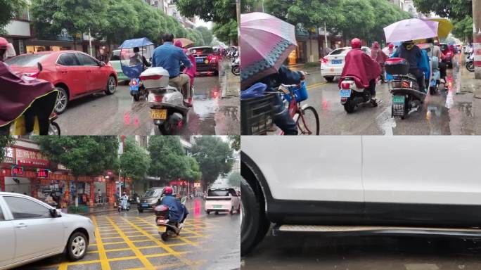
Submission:
POLYGON ((65 248, 63 222, 51 217, 49 208, 28 198, 4 195, 13 217, 15 259, 20 262, 65 248))

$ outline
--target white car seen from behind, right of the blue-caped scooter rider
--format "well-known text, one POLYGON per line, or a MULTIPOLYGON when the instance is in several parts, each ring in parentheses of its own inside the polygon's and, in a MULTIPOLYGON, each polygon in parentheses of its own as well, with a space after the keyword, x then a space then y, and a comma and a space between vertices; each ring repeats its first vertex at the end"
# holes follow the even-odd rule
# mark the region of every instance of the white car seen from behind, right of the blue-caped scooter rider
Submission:
POLYGON ((241 197, 233 188, 209 188, 205 197, 205 212, 241 213, 241 197))

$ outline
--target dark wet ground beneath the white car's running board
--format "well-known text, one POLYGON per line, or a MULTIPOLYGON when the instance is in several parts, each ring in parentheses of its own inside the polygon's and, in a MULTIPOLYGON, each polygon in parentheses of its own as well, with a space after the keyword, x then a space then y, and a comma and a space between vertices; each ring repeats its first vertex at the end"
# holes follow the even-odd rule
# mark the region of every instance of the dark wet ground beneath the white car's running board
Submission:
POLYGON ((457 238, 267 236, 243 270, 481 269, 481 242, 457 238))

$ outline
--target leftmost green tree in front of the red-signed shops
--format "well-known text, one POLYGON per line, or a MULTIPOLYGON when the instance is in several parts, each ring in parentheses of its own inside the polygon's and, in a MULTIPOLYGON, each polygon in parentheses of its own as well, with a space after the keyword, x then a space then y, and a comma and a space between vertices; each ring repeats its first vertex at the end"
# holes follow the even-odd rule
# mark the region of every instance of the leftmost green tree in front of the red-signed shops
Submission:
POLYGON ((51 162, 68 167, 75 176, 75 206, 78 206, 78 176, 97 176, 118 167, 117 136, 37 136, 40 150, 51 162))

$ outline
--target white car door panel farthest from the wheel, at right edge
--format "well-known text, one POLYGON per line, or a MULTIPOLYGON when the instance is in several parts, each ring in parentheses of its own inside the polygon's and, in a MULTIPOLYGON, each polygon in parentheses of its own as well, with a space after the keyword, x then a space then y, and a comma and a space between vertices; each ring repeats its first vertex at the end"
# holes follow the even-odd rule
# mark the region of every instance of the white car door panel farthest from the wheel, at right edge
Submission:
POLYGON ((364 136, 366 202, 481 205, 477 160, 469 136, 364 136))

